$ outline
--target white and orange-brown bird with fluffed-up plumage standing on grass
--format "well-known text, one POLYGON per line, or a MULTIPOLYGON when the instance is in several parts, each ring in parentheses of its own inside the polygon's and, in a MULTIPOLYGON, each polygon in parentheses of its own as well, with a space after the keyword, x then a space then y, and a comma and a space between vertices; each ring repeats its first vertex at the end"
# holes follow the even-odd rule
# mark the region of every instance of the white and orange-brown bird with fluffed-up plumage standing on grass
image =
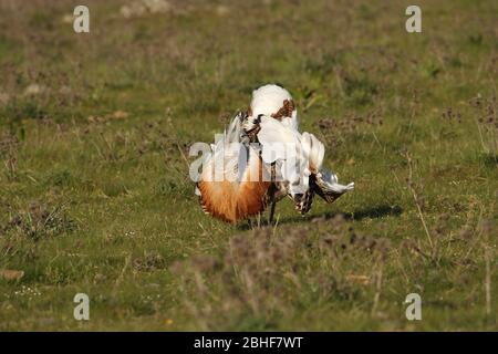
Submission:
POLYGON ((300 214, 310 210, 314 195, 333 202, 354 188, 338 183, 322 168, 323 144, 299 132, 298 112, 287 90, 264 85, 252 92, 247 112, 230 122, 211 145, 196 185, 200 205, 215 218, 237 222, 270 209, 289 196, 300 214))

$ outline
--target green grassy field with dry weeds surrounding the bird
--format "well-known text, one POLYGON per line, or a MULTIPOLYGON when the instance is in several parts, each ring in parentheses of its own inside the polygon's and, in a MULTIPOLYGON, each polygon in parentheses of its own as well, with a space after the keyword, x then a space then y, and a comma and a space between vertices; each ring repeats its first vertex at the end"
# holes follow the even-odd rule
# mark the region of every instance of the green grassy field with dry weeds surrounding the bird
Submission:
POLYGON ((497 1, 80 2, 0 0, 0 330, 497 331, 497 1), (211 219, 188 148, 271 82, 356 189, 211 219))

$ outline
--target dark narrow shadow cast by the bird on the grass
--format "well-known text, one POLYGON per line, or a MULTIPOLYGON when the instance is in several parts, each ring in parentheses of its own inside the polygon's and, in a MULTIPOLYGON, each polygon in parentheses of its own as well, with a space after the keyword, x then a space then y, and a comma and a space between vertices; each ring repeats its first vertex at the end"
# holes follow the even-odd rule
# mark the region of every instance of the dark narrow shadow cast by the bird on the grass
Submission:
MULTIPOLYGON (((369 219, 378 219, 387 216, 400 216, 403 212, 403 209, 400 206, 390 206, 390 205, 380 205, 374 207, 364 208, 353 212, 340 212, 340 211, 330 211, 321 215, 307 215, 307 216, 297 216, 290 218, 283 218, 279 220, 279 225, 286 223, 299 223, 311 221, 313 219, 333 219, 338 215, 342 215, 345 220, 362 220, 365 218, 369 219)), ((266 218, 261 218, 261 227, 268 226, 268 221, 266 218)), ((251 220, 248 223, 242 223, 238 226, 239 230, 249 230, 257 227, 257 221, 251 220)))

